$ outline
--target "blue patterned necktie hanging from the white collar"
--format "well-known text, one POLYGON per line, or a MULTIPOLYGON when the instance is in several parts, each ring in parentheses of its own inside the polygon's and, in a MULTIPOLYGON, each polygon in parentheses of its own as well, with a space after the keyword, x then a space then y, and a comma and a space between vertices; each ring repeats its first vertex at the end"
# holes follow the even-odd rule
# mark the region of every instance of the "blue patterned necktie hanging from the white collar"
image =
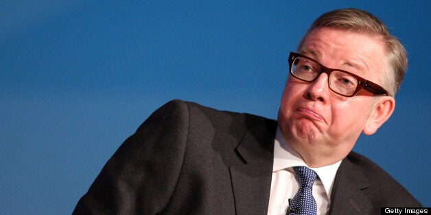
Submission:
POLYGON ((289 207, 289 214, 316 215, 317 205, 313 197, 312 188, 314 179, 318 177, 314 170, 306 166, 294 166, 296 177, 299 179, 300 188, 293 197, 289 207))

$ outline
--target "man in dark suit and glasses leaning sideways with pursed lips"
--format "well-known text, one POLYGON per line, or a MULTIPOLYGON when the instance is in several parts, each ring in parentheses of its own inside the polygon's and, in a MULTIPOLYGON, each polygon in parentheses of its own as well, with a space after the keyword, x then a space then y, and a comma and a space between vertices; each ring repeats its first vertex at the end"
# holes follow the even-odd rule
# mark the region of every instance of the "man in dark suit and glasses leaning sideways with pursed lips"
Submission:
POLYGON ((420 207, 384 170, 351 152, 361 132, 375 133, 395 108, 407 64, 399 41, 368 12, 335 10, 312 24, 297 52, 289 56, 277 122, 171 101, 119 147, 74 213, 420 207))

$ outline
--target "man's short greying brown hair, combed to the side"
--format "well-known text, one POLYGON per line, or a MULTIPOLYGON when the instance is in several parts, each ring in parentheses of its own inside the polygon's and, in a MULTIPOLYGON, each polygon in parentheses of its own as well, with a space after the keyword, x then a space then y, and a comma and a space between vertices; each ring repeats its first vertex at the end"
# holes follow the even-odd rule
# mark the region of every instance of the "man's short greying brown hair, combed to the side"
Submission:
POLYGON ((302 49, 307 36, 314 29, 322 27, 367 34, 384 42, 386 68, 380 72, 380 81, 382 82, 382 86, 388 91, 388 94, 395 96, 406 73, 407 53, 401 42, 389 33, 388 28, 379 18, 369 12, 355 8, 326 12, 318 17, 307 32, 305 32, 305 35, 299 42, 298 51, 302 49))

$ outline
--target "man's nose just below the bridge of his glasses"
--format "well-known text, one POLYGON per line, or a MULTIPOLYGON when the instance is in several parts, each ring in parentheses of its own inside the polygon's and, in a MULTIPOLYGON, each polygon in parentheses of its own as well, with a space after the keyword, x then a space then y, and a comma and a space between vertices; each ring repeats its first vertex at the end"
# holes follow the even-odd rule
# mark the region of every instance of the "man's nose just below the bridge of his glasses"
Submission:
POLYGON ((329 77, 326 73, 321 73, 305 91, 304 97, 312 101, 328 101, 329 97, 329 77))

